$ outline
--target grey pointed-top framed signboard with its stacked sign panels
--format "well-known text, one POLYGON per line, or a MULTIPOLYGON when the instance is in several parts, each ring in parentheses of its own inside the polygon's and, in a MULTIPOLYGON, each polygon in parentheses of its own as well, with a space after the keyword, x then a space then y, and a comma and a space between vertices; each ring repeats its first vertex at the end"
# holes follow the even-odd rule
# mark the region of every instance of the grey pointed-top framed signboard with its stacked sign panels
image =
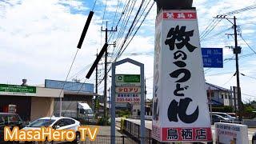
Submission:
POLYGON ((141 105, 140 140, 145 143, 145 100, 144 100, 144 64, 130 58, 112 64, 112 90, 111 90, 111 138, 110 143, 115 143, 115 103, 130 102, 141 105), (130 62, 139 66, 140 74, 115 74, 116 66, 130 62))

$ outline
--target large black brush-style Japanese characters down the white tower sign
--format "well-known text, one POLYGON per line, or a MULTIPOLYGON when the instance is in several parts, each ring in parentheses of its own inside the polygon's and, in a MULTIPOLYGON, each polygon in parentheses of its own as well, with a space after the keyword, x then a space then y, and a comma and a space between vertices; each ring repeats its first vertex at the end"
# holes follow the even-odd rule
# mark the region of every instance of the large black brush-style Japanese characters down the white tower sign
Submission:
POLYGON ((198 107, 192 114, 186 114, 187 107, 190 105, 190 102, 193 100, 191 98, 182 98, 185 94, 182 92, 184 90, 189 89, 189 85, 186 83, 191 78, 190 70, 186 68, 186 52, 182 50, 183 47, 186 46, 186 49, 189 50, 190 53, 197 48, 190 44, 190 37, 194 34, 194 30, 186 31, 186 26, 176 26, 172 27, 169 30, 166 38, 166 45, 169 45, 170 50, 174 50, 176 46, 178 50, 174 52, 174 65, 177 66, 178 70, 174 70, 170 73, 171 78, 179 78, 176 83, 176 90, 174 90, 174 95, 176 97, 180 97, 180 102, 173 100, 170 102, 168 108, 168 118, 170 122, 178 122, 178 117, 182 122, 185 123, 193 123, 198 119, 198 107), (176 40, 181 42, 175 43, 176 40), (181 77, 182 75, 182 77, 181 77))

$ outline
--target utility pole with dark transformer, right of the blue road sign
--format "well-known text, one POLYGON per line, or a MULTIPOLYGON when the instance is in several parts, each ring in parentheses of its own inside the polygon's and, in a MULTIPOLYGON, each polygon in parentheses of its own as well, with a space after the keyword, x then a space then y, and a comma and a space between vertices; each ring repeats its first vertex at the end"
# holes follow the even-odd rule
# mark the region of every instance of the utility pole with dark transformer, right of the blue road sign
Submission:
POLYGON ((230 23, 232 23, 234 28, 234 49, 233 52, 235 54, 235 68, 236 68, 236 76, 237 76, 237 89, 238 89, 238 118, 239 121, 242 121, 242 98, 241 98, 241 88, 240 88, 240 79, 239 79, 239 65, 238 65, 238 54, 241 54, 241 47, 238 46, 238 31, 237 31, 237 22, 235 16, 234 18, 226 18, 226 15, 217 15, 216 18, 225 18, 230 23), (234 20, 234 23, 230 21, 230 19, 234 20))

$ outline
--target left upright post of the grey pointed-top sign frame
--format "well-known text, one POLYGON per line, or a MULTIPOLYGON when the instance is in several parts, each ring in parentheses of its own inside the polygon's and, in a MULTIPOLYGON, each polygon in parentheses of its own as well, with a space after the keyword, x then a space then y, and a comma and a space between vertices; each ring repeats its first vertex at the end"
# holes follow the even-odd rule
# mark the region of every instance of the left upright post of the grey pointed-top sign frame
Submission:
POLYGON ((112 91, 111 91, 111 134, 110 143, 115 143, 115 63, 112 64, 112 91))

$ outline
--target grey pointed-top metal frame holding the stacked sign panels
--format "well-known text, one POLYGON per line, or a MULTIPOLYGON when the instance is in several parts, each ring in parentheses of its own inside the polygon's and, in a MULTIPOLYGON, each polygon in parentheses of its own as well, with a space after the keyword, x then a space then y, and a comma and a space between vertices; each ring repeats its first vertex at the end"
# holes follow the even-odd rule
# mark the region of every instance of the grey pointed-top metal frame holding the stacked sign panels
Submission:
POLYGON ((116 87, 116 74, 115 74, 115 68, 116 66, 122 65, 123 63, 130 62, 131 64, 134 64, 135 66, 140 67, 140 82, 141 82, 141 144, 145 143, 145 90, 144 90, 144 64, 134 61, 130 58, 123 59, 118 62, 114 62, 112 64, 112 88, 111 88, 111 138, 110 143, 115 144, 115 87, 116 87))

